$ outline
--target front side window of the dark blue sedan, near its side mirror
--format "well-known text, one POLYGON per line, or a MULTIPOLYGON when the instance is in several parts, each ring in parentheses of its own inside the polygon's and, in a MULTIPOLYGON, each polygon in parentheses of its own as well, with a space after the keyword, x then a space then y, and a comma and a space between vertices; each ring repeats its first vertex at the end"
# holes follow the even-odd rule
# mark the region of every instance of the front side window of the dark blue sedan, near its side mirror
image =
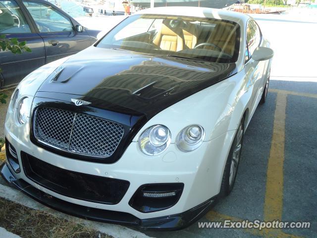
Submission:
POLYGON ((40 32, 72 31, 73 25, 52 6, 42 2, 23 1, 40 32))

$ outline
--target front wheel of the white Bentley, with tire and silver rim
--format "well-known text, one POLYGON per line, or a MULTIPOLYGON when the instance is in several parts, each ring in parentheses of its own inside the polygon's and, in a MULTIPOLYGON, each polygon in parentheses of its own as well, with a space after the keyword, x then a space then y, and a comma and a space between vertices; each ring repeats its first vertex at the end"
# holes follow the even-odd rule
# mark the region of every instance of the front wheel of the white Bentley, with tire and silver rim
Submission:
POLYGON ((230 194, 237 177, 237 172, 238 172, 238 167, 240 162, 240 155, 242 150, 242 142, 243 142, 243 132, 244 132, 243 122, 244 122, 244 118, 241 119, 241 122, 238 126, 238 129, 236 131, 236 134, 234 136, 234 139, 229 151, 229 155, 226 161, 226 165, 224 168, 222 181, 221 181, 220 197, 224 197, 230 194))

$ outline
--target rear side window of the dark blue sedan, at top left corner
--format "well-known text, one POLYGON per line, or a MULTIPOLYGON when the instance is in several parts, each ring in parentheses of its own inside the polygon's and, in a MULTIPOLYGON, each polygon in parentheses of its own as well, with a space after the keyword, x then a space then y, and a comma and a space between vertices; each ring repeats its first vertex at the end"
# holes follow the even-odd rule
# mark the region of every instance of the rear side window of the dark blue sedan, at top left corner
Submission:
POLYGON ((0 0, 0 33, 30 33, 31 29, 16 1, 0 0))

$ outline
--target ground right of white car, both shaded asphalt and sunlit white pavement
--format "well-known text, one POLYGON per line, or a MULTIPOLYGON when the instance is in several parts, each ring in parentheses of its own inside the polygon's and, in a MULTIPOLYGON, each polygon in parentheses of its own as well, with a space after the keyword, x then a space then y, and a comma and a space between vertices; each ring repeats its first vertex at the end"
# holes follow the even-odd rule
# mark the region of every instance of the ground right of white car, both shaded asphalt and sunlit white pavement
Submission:
POLYGON ((312 11, 302 11, 254 15, 275 52, 270 92, 245 133, 235 188, 200 222, 301 221, 311 222, 311 228, 200 229, 195 223, 182 231, 146 235, 317 237, 317 17, 312 11))

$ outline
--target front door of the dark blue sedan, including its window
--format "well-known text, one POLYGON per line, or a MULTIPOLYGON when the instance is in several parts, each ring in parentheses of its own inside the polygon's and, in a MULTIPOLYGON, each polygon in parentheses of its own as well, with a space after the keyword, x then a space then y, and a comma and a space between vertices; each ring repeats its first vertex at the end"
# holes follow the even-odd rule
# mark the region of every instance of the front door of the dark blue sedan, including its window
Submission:
POLYGON ((71 18, 53 4, 37 0, 23 0, 23 3, 44 40, 47 63, 75 54, 92 44, 89 34, 77 31, 71 18))

